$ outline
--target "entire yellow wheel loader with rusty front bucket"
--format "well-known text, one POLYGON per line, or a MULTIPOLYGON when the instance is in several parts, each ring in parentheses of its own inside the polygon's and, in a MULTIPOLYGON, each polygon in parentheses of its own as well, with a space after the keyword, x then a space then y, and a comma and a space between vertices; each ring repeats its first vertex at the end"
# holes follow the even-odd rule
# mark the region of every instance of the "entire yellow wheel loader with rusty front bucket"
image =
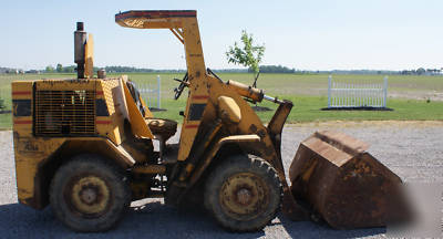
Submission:
POLYGON ((336 132, 300 144, 287 183, 281 132, 292 103, 205 66, 196 11, 126 11, 125 28, 166 29, 184 45, 187 89, 179 143, 177 122, 157 118, 127 76, 93 72, 93 38, 74 32, 78 77, 12 83, 18 199, 51 205, 75 231, 105 231, 132 201, 204 206, 223 228, 256 231, 281 208, 295 220, 322 218, 334 228, 384 226, 401 179, 367 153, 368 145, 336 132), (250 103, 278 105, 265 125, 250 103))

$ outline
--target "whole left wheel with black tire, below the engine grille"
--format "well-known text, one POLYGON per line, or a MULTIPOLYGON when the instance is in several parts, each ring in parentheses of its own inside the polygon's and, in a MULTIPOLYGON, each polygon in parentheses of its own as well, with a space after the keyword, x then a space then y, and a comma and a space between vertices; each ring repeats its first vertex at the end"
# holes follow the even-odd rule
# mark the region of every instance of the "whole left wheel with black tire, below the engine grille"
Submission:
POLYGON ((96 155, 79 155, 55 173, 50 201, 56 218, 69 228, 106 231, 127 210, 131 190, 121 168, 96 155))

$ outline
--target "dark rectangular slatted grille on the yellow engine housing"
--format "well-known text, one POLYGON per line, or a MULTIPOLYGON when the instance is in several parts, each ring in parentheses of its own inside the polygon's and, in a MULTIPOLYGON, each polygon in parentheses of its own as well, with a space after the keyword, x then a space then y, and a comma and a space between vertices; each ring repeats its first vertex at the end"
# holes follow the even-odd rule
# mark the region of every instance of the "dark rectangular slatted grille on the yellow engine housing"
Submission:
POLYGON ((95 133, 94 91, 37 91, 34 132, 41 136, 95 133))

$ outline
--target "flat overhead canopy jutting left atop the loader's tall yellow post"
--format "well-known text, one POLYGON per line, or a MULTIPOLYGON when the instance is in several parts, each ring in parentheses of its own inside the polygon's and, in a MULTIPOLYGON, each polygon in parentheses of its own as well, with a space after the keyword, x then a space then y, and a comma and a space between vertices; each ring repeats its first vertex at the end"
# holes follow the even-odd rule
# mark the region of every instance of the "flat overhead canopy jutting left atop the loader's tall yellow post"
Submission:
POLYGON ((125 11, 115 14, 115 22, 125 28, 175 29, 183 27, 183 18, 196 15, 195 10, 125 11))

